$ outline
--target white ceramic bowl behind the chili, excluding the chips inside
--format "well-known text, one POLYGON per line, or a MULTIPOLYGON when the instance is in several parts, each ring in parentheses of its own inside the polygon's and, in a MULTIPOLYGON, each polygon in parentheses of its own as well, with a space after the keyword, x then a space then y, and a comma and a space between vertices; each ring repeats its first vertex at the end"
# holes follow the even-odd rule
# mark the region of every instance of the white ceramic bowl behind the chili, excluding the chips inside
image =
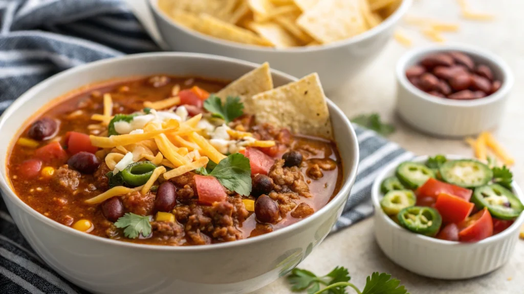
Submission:
POLYGON ((298 77, 318 72, 327 92, 340 87, 375 59, 412 3, 412 0, 403 0, 382 24, 351 39, 324 46, 275 49, 221 40, 184 28, 160 11, 158 0, 147 1, 162 39, 172 50, 217 54, 257 63, 268 61, 272 68, 298 77))

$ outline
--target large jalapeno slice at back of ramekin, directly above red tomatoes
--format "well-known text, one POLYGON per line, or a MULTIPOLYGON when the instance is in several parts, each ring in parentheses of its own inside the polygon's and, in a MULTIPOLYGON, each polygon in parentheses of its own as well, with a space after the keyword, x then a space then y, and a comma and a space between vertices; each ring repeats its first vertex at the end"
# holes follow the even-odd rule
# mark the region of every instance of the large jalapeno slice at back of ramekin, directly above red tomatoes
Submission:
POLYGON ((469 159, 448 161, 439 171, 445 182, 465 188, 484 186, 493 178, 489 166, 469 159))

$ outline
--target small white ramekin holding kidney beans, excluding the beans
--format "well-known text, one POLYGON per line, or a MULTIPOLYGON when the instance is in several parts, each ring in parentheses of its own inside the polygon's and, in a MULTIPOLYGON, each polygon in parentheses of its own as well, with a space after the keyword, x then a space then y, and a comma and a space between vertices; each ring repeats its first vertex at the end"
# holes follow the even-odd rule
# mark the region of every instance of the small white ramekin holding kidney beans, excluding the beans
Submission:
POLYGON ((508 94, 514 78, 509 66, 496 54, 464 45, 433 45, 408 51, 397 62, 397 112, 413 128, 442 137, 464 137, 494 128, 504 114, 508 94), (475 62, 488 65, 500 89, 484 98, 452 100, 425 93, 412 85, 406 69, 417 64, 424 56, 447 51, 460 51, 475 62))

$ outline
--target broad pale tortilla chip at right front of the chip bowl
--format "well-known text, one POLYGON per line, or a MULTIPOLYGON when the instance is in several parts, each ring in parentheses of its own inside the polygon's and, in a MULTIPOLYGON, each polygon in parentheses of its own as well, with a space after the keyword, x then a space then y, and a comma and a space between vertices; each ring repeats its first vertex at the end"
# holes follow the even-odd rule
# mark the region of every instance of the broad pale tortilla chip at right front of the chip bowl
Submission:
POLYGON ((360 0, 323 0, 306 10, 297 24, 321 43, 348 39, 366 30, 360 0))

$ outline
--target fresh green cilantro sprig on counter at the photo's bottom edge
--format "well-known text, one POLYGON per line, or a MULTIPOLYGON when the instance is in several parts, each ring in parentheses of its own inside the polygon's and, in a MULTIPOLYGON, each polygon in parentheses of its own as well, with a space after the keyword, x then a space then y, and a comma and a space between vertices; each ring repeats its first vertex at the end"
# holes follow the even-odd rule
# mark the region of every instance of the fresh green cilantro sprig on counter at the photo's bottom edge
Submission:
POLYGON ((339 266, 321 277, 300 268, 293 269, 288 276, 293 292, 307 290, 308 294, 346 294, 346 287, 351 287, 357 294, 409 294, 404 286, 400 286, 400 280, 386 273, 375 272, 368 276, 362 291, 349 282, 350 279, 347 269, 339 266), (321 285, 326 287, 321 290, 321 285))

